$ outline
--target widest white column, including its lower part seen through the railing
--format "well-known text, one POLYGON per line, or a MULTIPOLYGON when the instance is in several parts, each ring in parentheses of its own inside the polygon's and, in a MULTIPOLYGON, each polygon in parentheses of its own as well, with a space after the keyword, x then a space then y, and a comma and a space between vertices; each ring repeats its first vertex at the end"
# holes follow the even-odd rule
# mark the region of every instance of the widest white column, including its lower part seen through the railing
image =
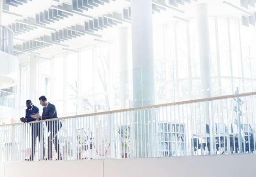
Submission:
MULTIPOLYGON (((152 1, 131 0, 131 15, 133 103, 135 107, 154 105, 152 1)), ((155 144, 151 142, 156 137, 156 133, 152 133, 156 126, 155 116, 150 111, 135 112, 132 122, 132 154, 137 158, 153 156, 156 152, 155 144)))

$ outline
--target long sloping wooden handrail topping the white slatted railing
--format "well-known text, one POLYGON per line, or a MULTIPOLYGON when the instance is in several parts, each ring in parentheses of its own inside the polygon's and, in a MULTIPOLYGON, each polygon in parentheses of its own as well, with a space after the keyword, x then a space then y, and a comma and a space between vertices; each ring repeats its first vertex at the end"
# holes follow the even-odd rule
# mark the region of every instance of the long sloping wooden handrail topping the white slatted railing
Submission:
MULTIPOLYGON (((174 103, 164 103, 164 104, 158 104, 158 105, 150 105, 150 106, 142 106, 142 107, 133 107, 133 108, 127 108, 127 109, 121 109, 121 110, 112 110, 112 111, 105 111, 105 112, 96 112, 96 113, 90 113, 90 114, 81 114, 76 116, 66 116, 61 118, 53 118, 53 119, 46 119, 46 120, 40 120, 40 121, 33 121, 29 123, 37 123, 37 122, 48 122, 52 120, 63 120, 68 118, 78 118, 78 117, 88 117, 88 116, 96 116, 96 115, 102 115, 102 114, 111 114, 115 112, 126 112, 126 111, 133 111, 133 110, 143 110, 143 109, 149 109, 154 107, 163 107, 163 106, 170 106, 170 105, 181 105, 181 104, 189 104, 189 103, 196 103, 196 102, 202 102, 202 101, 213 101, 217 99, 227 99, 227 98, 233 98, 233 97, 245 97, 250 95, 256 95, 256 92, 248 92, 248 93, 239 93, 234 95, 223 95, 218 97, 208 97, 208 98, 201 98, 201 99, 193 99, 188 101, 179 101, 174 103)), ((20 125, 24 124, 22 122, 15 123, 15 124, 2 124, 0 126, 13 126, 13 125, 20 125)))

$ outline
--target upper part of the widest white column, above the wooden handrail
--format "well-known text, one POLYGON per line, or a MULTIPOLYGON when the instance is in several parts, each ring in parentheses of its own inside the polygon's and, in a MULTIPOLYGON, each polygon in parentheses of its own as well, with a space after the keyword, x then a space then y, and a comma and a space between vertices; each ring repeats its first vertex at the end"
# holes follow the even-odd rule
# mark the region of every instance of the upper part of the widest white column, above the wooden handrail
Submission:
POLYGON ((154 104, 152 1, 131 0, 134 106, 154 104))

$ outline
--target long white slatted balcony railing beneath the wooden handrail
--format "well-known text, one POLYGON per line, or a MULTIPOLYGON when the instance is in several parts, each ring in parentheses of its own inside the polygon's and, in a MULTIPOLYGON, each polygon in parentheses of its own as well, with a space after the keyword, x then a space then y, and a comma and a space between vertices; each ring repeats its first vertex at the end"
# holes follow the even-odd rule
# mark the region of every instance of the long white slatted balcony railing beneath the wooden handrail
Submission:
POLYGON ((255 101, 253 92, 2 125, 0 161, 255 153, 255 101))

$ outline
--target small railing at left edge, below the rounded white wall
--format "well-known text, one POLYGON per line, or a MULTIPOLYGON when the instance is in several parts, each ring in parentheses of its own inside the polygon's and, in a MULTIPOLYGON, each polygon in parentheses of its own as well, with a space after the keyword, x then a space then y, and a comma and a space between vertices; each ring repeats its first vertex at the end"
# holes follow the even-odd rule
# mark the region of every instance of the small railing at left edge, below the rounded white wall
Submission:
POLYGON ((14 93, 0 90, 0 106, 15 107, 15 98, 14 93))

